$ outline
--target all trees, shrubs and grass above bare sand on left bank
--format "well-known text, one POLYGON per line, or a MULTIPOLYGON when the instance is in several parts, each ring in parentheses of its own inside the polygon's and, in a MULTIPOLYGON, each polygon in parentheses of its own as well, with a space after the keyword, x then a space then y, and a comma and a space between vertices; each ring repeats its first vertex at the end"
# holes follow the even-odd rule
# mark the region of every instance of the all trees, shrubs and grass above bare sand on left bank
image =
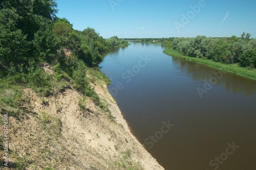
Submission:
POLYGON ((56 13, 54 0, 0 1, 0 104, 15 103, 23 87, 47 96, 70 81, 99 102, 87 72, 97 69, 94 67, 102 61, 100 52, 128 43, 117 36, 103 39, 92 28, 74 30, 56 13), (54 74, 46 71, 49 66, 54 74), (11 102, 6 102, 9 98, 4 91, 8 88, 14 91, 11 102))

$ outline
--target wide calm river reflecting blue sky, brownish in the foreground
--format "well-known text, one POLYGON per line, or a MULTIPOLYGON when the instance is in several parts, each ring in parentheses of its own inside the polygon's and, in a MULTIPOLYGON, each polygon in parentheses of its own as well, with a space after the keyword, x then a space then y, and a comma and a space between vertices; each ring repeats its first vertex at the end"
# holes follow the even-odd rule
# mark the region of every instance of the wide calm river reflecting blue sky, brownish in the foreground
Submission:
POLYGON ((256 82, 131 43, 100 63, 132 133, 166 170, 255 170, 256 82))

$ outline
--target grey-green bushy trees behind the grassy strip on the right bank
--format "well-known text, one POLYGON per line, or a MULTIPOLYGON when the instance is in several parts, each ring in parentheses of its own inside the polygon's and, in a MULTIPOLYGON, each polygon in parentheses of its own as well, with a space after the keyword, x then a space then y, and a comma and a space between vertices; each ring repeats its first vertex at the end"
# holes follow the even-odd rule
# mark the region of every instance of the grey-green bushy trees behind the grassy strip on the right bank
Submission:
POLYGON ((173 49, 189 57, 210 59, 226 64, 238 63, 242 67, 256 68, 256 39, 243 33, 241 38, 175 38, 173 49))

